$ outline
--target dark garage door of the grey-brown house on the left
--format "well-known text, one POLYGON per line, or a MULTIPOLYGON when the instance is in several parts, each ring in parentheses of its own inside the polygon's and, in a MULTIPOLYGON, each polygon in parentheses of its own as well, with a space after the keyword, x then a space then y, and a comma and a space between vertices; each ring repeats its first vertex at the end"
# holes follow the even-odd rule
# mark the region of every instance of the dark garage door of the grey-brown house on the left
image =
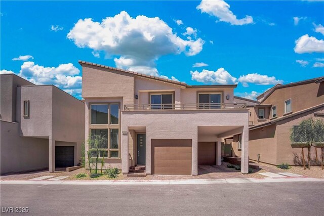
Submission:
POLYGON ((55 146, 55 166, 74 166, 74 146, 55 146))

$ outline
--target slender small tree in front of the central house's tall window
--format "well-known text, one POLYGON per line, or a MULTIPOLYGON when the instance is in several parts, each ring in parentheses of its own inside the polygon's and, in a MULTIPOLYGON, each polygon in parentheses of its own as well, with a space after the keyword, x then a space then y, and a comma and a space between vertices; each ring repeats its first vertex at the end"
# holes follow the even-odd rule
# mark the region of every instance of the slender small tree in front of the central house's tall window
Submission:
MULTIPOLYGON (((90 174, 92 174, 91 165, 95 167, 94 174, 98 174, 98 161, 99 157, 102 153, 102 159, 101 159, 101 171, 100 175, 102 174, 102 168, 103 168, 103 158, 105 155, 105 151, 102 149, 107 148, 107 135, 90 135, 88 139, 88 161, 89 161, 89 168, 90 168, 90 174)), ((107 152, 108 154, 108 152, 107 152)))

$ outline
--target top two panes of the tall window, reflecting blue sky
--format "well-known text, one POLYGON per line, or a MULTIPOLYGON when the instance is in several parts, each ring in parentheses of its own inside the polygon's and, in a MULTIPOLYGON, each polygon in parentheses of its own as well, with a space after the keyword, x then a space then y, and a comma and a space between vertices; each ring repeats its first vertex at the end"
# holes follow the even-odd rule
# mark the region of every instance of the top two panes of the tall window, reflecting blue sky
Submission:
POLYGON ((119 123, 119 104, 92 104, 91 124, 108 124, 108 122, 119 123))

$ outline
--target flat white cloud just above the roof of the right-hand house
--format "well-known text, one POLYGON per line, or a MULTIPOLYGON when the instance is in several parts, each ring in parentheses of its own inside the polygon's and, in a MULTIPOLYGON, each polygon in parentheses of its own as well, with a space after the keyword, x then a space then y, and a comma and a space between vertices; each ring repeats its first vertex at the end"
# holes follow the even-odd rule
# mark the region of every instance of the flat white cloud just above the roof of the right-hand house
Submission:
POLYGON ((241 75, 238 81, 242 83, 244 87, 248 87, 248 83, 254 83, 257 85, 271 85, 284 82, 283 80, 276 79, 274 76, 260 75, 258 73, 249 73, 247 75, 241 75))

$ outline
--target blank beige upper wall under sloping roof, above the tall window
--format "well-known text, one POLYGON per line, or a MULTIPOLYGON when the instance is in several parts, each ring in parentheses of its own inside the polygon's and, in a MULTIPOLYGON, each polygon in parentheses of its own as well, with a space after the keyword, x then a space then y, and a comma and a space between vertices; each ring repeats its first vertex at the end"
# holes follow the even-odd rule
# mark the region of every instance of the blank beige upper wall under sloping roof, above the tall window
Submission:
POLYGON ((134 75, 84 65, 82 67, 82 97, 121 97, 124 104, 134 104, 134 75))

